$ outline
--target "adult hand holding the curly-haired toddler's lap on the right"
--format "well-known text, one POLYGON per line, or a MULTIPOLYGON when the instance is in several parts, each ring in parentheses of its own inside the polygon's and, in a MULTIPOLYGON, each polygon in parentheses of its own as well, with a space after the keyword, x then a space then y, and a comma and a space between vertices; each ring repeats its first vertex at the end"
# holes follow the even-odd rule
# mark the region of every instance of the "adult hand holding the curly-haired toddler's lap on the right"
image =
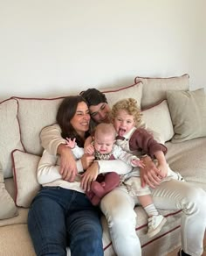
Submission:
POLYGON ((141 158, 145 167, 141 167, 141 187, 148 184, 149 187, 155 188, 161 182, 161 171, 155 166, 154 162, 149 156, 141 158))

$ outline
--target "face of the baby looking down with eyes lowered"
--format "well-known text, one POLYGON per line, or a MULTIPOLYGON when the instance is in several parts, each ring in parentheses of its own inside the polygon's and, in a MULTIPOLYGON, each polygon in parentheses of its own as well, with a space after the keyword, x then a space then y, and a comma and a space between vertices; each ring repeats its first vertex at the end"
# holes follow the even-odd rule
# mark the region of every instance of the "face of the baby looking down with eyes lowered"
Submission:
POLYGON ((111 153, 113 150, 113 134, 98 133, 94 136, 94 148, 100 153, 111 153))

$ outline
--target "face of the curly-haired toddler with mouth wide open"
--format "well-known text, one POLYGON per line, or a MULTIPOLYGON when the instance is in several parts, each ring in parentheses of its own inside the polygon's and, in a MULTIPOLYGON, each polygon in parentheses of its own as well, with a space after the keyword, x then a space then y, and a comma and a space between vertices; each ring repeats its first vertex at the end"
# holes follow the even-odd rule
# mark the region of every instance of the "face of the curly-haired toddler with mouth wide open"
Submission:
POLYGON ((119 110, 113 119, 113 126, 118 135, 124 136, 134 128, 134 117, 126 110, 119 110))

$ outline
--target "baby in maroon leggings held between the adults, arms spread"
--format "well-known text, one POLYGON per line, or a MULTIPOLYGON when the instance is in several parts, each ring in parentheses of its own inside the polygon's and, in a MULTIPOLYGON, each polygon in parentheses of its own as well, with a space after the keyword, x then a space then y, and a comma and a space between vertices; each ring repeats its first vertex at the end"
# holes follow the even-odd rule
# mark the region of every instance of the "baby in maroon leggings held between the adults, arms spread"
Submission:
MULTIPOLYGON (((79 159, 84 153, 94 154, 95 160, 120 159, 132 167, 143 167, 141 160, 134 154, 127 153, 120 146, 115 145, 116 132, 113 124, 98 124, 94 130, 93 142, 85 150, 76 145, 75 139, 67 139, 67 146, 72 149, 74 156, 79 159)), ((98 205, 100 199, 120 184, 120 175, 115 172, 99 174, 96 181, 92 181, 91 191, 86 192, 93 205, 98 205)))

